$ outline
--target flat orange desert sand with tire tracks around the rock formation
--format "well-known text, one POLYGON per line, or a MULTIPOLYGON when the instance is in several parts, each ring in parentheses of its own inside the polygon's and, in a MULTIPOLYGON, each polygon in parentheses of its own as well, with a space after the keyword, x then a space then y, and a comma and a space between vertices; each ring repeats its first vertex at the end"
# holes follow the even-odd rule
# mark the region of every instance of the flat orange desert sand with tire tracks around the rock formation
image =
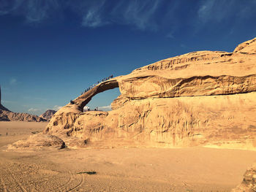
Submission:
POLYGON ((255 151, 203 147, 4 151, 46 124, 0 122, 0 191, 230 191, 256 161, 255 151))

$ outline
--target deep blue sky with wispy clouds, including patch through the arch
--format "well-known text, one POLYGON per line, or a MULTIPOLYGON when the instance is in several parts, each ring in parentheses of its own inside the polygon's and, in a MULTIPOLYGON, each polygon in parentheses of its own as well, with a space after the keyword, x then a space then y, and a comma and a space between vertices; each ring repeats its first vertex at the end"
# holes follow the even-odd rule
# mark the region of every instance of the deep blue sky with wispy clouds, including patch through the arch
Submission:
MULTIPOLYGON (((89 85, 256 37, 256 0, 0 0, 2 103, 40 115, 89 85)), ((106 107, 118 89, 95 96, 106 107)))

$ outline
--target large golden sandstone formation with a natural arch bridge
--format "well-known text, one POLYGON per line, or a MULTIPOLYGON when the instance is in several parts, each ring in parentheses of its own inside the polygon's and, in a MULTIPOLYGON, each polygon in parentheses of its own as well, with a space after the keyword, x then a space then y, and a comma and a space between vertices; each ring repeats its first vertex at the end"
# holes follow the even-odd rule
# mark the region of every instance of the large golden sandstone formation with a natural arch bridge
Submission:
POLYGON ((68 146, 256 147, 256 39, 233 53, 197 51, 99 83, 50 120, 68 146), (119 88, 110 112, 83 112, 119 88))

